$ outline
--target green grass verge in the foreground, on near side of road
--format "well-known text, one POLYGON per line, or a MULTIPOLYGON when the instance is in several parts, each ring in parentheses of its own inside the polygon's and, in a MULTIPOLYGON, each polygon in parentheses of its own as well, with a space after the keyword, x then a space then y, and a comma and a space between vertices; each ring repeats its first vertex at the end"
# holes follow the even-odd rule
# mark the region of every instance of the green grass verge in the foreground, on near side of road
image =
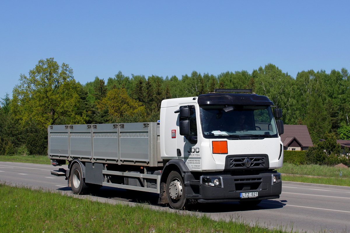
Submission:
POLYGON ((215 221, 206 215, 155 211, 142 205, 112 205, 0 183, 0 232, 283 233, 285 230, 282 226, 251 226, 239 217, 215 221))

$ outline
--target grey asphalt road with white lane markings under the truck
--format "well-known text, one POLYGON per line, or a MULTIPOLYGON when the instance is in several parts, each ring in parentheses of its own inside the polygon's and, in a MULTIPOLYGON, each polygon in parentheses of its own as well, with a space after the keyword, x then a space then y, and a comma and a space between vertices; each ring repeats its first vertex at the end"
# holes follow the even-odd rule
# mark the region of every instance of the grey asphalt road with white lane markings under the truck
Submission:
MULTIPOLYGON (((52 176, 50 170, 58 168, 33 163, 0 162, 0 180, 12 185, 43 187, 74 195, 64 177, 52 176)), ((168 206, 158 205, 159 196, 147 192, 103 187, 95 196, 74 196, 129 205, 144 203, 153 209, 174 211, 168 206)), ((191 208, 186 212, 208 214, 213 219, 224 218, 228 221, 240 219, 268 228, 283 225, 287 230, 293 228, 299 232, 350 232, 350 187, 283 182, 279 199, 262 201, 254 208, 245 208, 237 202, 197 204, 191 208)))

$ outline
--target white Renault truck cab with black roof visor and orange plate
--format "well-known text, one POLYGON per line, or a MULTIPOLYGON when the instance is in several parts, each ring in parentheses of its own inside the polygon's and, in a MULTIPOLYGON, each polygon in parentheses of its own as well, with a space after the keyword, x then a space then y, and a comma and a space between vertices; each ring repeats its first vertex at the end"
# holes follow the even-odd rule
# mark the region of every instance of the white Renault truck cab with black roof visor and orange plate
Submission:
MULTIPOLYGON (((276 123, 271 106, 266 96, 230 90, 162 101, 161 158, 186 165, 178 188, 187 199, 252 205, 279 198, 281 176, 274 169, 283 162, 283 123, 276 123)), ((169 194, 169 203, 180 202, 169 194)))

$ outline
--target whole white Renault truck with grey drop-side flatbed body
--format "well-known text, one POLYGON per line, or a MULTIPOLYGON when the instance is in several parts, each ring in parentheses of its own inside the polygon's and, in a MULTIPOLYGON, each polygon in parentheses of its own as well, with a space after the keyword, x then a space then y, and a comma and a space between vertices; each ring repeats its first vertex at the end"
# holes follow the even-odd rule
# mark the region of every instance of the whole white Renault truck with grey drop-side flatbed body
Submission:
POLYGON ((159 122, 48 126, 51 171, 75 194, 102 186, 154 192, 159 203, 257 205, 282 190, 282 110, 245 89, 163 100, 159 122))

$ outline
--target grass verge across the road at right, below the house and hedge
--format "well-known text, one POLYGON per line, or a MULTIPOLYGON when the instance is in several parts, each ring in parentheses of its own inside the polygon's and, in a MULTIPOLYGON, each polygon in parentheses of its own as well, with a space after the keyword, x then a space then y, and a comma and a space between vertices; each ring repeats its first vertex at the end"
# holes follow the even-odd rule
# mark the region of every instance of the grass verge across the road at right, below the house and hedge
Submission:
POLYGON ((294 165, 285 162, 283 163, 283 167, 278 169, 278 172, 284 174, 282 175, 283 181, 350 186, 349 168, 321 165, 294 165), (342 172, 342 177, 339 177, 339 172, 342 172))

